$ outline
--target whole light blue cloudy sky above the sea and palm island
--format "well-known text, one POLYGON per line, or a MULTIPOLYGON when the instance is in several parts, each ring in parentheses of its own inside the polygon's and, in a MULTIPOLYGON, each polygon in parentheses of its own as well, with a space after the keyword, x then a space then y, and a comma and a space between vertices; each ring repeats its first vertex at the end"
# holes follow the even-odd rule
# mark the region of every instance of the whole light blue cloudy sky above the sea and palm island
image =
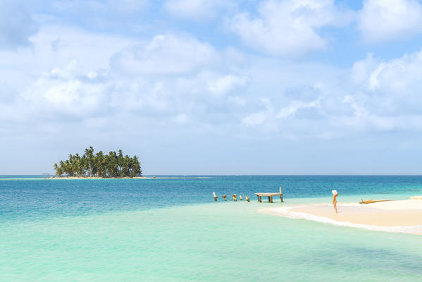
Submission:
POLYGON ((0 0, 0 175, 421 174, 422 1, 0 0))

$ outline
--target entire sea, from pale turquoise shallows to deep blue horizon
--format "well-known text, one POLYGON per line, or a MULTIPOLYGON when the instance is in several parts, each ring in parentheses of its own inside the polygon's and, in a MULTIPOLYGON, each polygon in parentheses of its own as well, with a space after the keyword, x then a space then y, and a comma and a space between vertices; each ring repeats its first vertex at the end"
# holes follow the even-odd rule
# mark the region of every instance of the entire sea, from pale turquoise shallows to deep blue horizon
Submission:
POLYGON ((420 176, 0 180, 0 281, 422 281, 422 236, 211 196, 280 185, 284 204, 422 195, 420 176))

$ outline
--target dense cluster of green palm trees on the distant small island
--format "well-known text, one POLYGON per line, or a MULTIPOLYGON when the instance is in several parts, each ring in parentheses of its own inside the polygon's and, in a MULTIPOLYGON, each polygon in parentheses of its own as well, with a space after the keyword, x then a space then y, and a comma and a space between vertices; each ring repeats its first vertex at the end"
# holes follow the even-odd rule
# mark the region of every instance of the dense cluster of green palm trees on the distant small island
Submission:
POLYGON ((85 149, 85 153, 69 154, 65 161, 54 164, 56 176, 123 178, 142 176, 141 165, 137 156, 123 155, 118 152, 99 151, 94 154, 94 148, 85 149))

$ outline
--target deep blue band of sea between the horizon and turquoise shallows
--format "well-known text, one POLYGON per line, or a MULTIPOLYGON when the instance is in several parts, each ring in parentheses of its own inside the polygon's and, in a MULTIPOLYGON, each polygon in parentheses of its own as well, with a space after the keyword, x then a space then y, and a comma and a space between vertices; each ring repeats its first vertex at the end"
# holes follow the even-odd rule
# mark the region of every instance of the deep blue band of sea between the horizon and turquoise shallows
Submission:
MULTIPOLYGON (((290 199, 422 194, 422 176, 210 176, 190 179, 45 180, 0 176, 0 221, 42 219, 128 209, 212 202, 217 195, 278 191, 290 199), (19 179, 15 179, 19 178, 19 179)), ((35 179, 37 178, 37 179, 35 179)))

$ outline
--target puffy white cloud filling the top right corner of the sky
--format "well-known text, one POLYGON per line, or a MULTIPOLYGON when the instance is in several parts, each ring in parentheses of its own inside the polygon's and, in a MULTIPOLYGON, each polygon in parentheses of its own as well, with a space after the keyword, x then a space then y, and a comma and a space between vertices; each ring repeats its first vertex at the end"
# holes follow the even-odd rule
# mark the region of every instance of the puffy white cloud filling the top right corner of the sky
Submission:
POLYGON ((366 42, 406 38, 422 32, 422 6, 416 0, 366 0, 358 27, 366 42))

